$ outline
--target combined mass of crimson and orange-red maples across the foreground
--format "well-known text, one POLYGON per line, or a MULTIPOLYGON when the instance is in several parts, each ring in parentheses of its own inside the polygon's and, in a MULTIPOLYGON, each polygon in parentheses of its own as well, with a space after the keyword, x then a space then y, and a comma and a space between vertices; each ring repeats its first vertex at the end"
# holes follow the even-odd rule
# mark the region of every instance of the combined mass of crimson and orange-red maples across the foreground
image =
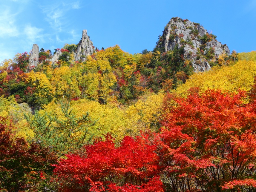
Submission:
POLYGON ((192 91, 187 99, 167 96, 161 133, 125 137, 119 147, 108 137, 67 155, 55 169, 61 190, 255 188, 256 103, 243 104, 245 96, 212 90, 192 91))

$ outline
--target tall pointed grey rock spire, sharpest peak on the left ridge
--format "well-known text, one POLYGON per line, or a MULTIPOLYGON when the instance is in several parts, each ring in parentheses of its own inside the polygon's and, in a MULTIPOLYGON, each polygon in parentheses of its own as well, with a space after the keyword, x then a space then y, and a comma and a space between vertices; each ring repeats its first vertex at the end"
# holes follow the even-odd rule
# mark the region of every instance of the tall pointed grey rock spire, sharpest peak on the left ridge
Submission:
POLYGON ((77 49, 75 53, 75 60, 85 61, 87 55, 92 55, 95 52, 94 46, 90 37, 87 35, 87 30, 83 30, 82 38, 80 42, 77 44, 77 49))

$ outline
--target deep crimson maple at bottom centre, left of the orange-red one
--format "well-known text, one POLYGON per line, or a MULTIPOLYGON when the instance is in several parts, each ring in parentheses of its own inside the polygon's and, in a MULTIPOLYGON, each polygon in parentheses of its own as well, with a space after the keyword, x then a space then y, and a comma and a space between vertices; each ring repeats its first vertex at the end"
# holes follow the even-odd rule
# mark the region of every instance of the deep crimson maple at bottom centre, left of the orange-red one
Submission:
POLYGON ((156 145, 147 137, 125 137, 120 147, 113 139, 69 154, 55 165, 61 191, 163 191, 156 145))

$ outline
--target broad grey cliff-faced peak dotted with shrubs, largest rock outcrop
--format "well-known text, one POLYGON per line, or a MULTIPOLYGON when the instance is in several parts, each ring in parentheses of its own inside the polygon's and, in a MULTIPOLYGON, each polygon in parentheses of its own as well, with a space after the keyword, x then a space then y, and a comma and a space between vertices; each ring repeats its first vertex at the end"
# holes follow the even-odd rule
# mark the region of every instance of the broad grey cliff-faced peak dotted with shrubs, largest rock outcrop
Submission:
POLYGON ((218 42, 199 23, 178 17, 169 21, 156 46, 165 52, 184 46, 184 58, 191 60, 196 72, 209 70, 208 62, 214 62, 220 54, 230 54, 228 46, 218 42))

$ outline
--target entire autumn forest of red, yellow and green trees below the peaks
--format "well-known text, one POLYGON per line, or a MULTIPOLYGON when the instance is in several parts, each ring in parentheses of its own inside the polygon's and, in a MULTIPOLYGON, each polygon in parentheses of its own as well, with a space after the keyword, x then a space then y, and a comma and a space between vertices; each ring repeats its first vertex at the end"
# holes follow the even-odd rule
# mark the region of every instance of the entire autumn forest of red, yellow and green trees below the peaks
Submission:
POLYGON ((76 49, 1 63, 0 191, 256 191, 255 51, 76 49))

